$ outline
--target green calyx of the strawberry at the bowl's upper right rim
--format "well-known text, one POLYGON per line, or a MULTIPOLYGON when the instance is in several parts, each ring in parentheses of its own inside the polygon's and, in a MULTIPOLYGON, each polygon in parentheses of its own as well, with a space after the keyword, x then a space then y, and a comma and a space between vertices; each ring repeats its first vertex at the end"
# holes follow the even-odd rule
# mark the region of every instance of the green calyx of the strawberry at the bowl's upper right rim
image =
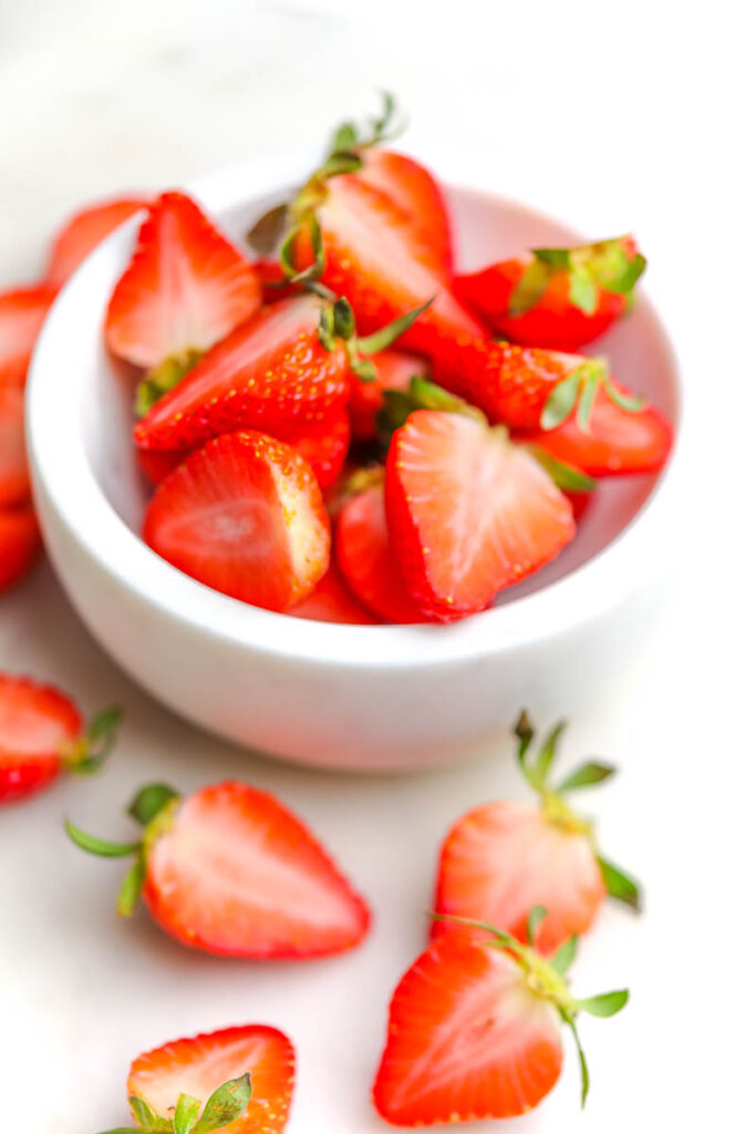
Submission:
POLYGON ((602 291, 627 296, 629 304, 645 268, 645 256, 634 251, 627 236, 575 248, 533 248, 533 261, 510 296, 508 314, 525 315, 551 280, 564 273, 569 277, 570 303, 584 315, 595 314, 602 291))

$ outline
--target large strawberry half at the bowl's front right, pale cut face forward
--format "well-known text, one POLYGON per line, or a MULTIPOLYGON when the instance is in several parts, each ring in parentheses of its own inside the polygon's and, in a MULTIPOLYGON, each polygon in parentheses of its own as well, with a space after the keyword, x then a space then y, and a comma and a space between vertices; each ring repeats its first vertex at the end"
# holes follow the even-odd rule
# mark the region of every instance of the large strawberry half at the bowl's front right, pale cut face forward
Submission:
POLYGON ((450 621, 483 610, 575 534, 569 501, 506 430, 421 409, 391 440, 389 535, 413 600, 450 621))

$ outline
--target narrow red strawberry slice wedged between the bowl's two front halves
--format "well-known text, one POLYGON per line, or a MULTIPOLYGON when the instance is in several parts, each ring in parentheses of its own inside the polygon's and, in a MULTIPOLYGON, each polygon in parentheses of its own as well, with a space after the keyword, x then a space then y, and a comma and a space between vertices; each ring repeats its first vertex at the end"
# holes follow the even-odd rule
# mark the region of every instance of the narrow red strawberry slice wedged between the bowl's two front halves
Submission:
POLYGON ((347 500, 339 511, 335 553, 341 574, 360 602, 390 623, 422 623, 389 542, 383 483, 347 500))

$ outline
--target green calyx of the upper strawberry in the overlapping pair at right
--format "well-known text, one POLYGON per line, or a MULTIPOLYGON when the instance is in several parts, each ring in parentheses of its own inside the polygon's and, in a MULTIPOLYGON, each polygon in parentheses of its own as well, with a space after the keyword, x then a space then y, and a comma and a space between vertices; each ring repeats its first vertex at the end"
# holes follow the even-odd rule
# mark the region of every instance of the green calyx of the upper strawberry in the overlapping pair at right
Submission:
POLYGON ((591 845, 601 870, 606 892, 618 902, 625 903, 636 912, 640 911, 640 886, 626 871, 609 862, 601 855, 595 845, 593 823, 578 815, 567 803, 564 796, 587 787, 603 784, 617 773, 613 764, 597 760, 588 760, 579 764, 555 786, 550 782, 552 765, 557 755, 559 741, 567 722, 559 721, 549 733, 537 751, 532 750, 535 733, 530 720, 523 711, 515 725, 515 736, 518 741, 517 762, 523 776, 541 797, 543 813, 550 823, 559 827, 568 835, 581 835, 591 840, 591 845))

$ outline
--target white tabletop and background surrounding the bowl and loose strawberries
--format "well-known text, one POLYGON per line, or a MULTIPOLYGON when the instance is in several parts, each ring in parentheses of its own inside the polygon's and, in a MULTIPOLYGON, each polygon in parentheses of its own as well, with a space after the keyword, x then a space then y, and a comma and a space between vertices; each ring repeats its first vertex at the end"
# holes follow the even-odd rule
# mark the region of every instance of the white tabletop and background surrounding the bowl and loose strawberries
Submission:
MULTIPOLYGON (((592 797, 609 853, 647 882, 646 915, 608 913, 583 992, 628 982, 588 1022, 593 1094, 574 1060, 512 1132, 749 1128, 754 1042, 753 37, 745 3, 490 7, 249 0, 0 0, 0 287, 31 279, 80 202, 182 184, 239 156, 317 143, 390 87, 404 145, 465 155, 502 192, 586 234, 635 231, 688 390, 689 491, 673 585, 646 654, 567 754, 623 769, 592 797)), ((671 553, 671 548, 674 553, 671 553)), ((622 643, 617 643, 622 649, 622 643)), ((511 753, 415 778, 320 776, 182 725, 93 645, 42 566, 0 600, 0 667, 120 701, 118 755, 0 815, 3 1128, 94 1134, 124 1123, 139 1050, 253 1019, 296 1042, 292 1134, 377 1134, 368 1086, 384 1005, 423 940, 433 855, 467 805, 519 790, 511 753), (369 895, 376 928, 345 958, 254 966, 181 950, 143 914, 117 924, 121 866, 69 847, 61 816, 124 836, 148 778, 239 776, 281 794, 369 895)), ((587 802, 587 801, 586 801, 587 802)), ((476 1129, 492 1129, 484 1124, 476 1129)))

